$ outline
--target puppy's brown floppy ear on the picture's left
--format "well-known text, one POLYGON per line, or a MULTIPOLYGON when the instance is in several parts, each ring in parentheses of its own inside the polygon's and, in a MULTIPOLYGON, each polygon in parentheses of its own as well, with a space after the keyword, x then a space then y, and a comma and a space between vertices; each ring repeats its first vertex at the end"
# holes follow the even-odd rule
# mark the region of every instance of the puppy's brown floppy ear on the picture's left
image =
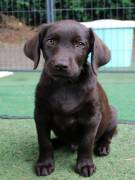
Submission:
POLYGON ((34 61, 34 69, 36 69, 39 64, 42 40, 48 27, 48 24, 43 24, 39 28, 39 32, 24 45, 24 53, 28 58, 34 61))

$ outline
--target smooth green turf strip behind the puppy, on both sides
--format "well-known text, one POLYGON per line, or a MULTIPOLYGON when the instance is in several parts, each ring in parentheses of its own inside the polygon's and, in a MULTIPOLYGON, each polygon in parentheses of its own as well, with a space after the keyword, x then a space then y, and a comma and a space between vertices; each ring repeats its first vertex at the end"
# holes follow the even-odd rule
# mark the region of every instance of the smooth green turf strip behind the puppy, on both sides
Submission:
MULTIPOLYGON (((0 78, 0 115, 32 116, 34 91, 40 73, 15 73, 0 78)), ((99 81, 104 87, 110 104, 118 110, 118 118, 135 120, 135 74, 103 74, 99 81)))

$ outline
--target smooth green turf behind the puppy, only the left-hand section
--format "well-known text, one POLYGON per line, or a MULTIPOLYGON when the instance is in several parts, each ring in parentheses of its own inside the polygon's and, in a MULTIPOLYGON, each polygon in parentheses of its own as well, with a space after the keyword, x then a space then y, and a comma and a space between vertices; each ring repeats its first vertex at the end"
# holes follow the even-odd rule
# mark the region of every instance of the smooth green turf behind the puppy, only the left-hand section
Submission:
POLYGON ((34 92, 40 73, 15 73, 0 78, 0 115, 33 116, 34 92))

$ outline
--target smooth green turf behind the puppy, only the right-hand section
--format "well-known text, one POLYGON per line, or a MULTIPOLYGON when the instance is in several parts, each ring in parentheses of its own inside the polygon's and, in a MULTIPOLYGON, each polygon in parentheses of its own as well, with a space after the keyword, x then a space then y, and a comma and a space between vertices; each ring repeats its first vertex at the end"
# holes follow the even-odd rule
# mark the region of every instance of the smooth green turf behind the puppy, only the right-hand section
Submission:
POLYGON ((101 73, 99 80, 110 104, 117 109, 118 119, 135 121, 135 73, 101 73))

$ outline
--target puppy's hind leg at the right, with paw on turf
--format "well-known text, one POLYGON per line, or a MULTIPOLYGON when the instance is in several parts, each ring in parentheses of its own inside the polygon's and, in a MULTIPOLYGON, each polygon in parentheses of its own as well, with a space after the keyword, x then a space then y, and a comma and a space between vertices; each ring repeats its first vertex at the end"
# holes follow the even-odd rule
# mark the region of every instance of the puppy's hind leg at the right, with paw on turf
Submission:
POLYGON ((97 156, 106 156, 110 152, 110 143, 112 137, 117 133, 117 112, 114 107, 110 106, 112 119, 105 133, 96 142, 94 152, 97 156))

